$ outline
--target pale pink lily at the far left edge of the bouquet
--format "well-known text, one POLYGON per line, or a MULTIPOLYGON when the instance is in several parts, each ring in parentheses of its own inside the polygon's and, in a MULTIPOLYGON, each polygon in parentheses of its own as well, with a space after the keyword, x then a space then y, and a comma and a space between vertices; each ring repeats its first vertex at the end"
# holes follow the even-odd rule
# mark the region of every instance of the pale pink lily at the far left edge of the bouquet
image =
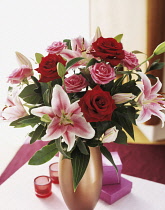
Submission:
POLYGON ((18 94, 18 89, 15 89, 12 95, 7 97, 6 107, 1 112, 1 119, 6 120, 7 122, 13 122, 28 115, 19 99, 18 94))

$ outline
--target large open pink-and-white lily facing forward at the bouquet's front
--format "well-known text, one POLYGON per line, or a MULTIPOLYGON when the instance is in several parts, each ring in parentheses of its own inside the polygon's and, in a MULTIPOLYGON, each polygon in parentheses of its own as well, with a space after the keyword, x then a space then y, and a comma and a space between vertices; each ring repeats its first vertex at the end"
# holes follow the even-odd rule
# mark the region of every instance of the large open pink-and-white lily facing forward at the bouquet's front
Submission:
POLYGON ((95 130, 90 123, 86 122, 78 102, 70 104, 67 93, 60 85, 56 85, 52 94, 52 107, 43 106, 32 109, 32 114, 42 117, 49 115, 51 123, 48 125, 46 135, 43 141, 63 137, 64 142, 68 145, 70 151, 76 141, 75 136, 85 139, 91 139, 95 135, 95 130))

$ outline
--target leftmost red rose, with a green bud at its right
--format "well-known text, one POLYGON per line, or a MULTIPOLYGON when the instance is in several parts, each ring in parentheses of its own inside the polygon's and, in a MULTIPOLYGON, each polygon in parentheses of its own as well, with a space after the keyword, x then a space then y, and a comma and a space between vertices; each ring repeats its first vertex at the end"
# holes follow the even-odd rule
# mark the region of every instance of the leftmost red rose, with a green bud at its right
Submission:
POLYGON ((57 73, 58 62, 62 63, 63 65, 66 64, 66 61, 60 55, 48 54, 46 57, 42 58, 39 68, 35 69, 41 74, 39 82, 49 82, 60 78, 57 73))

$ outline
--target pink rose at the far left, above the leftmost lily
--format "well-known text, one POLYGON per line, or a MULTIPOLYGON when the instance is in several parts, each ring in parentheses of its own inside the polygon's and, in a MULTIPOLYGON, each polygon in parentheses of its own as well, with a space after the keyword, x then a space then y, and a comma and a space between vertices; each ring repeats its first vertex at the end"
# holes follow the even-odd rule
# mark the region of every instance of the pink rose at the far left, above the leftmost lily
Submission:
POLYGON ((15 69, 8 77, 11 84, 19 84, 25 78, 33 75, 33 70, 29 66, 22 65, 20 68, 15 69))

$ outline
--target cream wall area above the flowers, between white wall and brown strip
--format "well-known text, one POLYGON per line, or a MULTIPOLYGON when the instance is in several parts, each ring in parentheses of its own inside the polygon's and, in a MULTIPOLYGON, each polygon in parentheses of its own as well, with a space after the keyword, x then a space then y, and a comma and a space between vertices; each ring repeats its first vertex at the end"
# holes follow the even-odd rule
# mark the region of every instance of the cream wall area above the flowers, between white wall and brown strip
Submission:
POLYGON ((104 37, 124 34, 127 51, 146 52, 146 0, 90 0, 90 33, 97 26, 104 37))

